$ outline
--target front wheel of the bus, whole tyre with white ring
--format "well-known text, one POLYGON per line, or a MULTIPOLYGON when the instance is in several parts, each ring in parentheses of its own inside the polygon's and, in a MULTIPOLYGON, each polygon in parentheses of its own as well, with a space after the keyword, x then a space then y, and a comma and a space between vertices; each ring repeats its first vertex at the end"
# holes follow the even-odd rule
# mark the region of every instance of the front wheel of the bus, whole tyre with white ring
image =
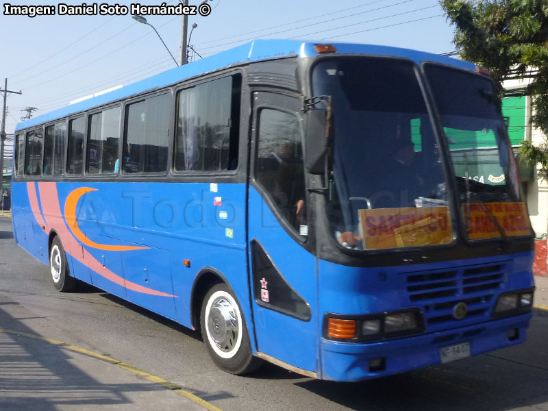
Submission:
POLYGON ((216 366, 236 375, 258 369, 260 360, 253 356, 240 306, 227 284, 216 284, 206 294, 200 325, 203 342, 216 366))

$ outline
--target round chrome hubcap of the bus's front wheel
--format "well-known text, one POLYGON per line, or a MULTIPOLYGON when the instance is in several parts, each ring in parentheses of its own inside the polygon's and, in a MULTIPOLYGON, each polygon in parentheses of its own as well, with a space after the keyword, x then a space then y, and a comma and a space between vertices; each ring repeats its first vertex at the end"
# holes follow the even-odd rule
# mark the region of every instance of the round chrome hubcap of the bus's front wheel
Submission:
POLYGON ((221 351, 229 352, 236 346, 240 333, 238 316, 232 303, 225 297, 217 298, 210 308, 208 332, 221 351))

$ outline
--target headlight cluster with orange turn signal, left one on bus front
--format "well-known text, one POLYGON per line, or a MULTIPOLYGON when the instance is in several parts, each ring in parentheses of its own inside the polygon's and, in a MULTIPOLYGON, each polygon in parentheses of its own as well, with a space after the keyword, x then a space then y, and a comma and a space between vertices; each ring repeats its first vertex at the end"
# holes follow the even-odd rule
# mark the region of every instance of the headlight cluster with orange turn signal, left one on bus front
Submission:
POLYGON ((325 314, 324 338, 353 342, 372 342, 419 334, 424 331, 423 314, 418 308, 361 316, 325 314), (356 323, 356 334, 352 337, 334 332, 334 323, 356 323))

